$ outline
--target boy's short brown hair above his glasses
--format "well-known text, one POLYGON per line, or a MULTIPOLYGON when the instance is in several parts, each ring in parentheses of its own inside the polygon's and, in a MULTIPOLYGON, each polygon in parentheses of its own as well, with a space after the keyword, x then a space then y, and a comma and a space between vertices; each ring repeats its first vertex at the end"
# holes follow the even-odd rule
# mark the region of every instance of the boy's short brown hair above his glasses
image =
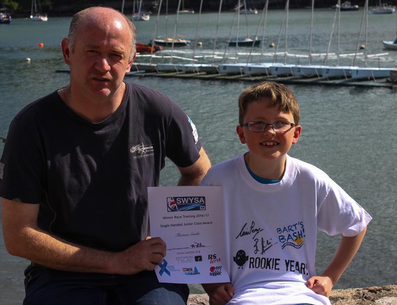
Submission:
POLYGON ((299 124, 300 110, 295 94, 285 87, 273 81, 264 81, 246 88, 239 97, 239 123, 243 124, 248 105, 251 102, 267 99, 268 107, 277 107, 278 111, 291 113, 294 123, 299 124))

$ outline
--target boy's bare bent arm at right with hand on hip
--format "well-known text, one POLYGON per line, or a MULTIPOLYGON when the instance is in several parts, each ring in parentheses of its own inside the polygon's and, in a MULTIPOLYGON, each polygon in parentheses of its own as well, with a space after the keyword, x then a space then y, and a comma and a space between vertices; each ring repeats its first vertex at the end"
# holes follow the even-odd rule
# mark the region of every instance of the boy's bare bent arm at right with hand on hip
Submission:
POLYGON ((326 270, 321 276, 313 276, 307 280, 306 286, 319 295, 330 297, 333 285, 336 284, 354 255, 356 255, 366 231, 367 227, 356 236, 342 236, 336 253, 326 270))

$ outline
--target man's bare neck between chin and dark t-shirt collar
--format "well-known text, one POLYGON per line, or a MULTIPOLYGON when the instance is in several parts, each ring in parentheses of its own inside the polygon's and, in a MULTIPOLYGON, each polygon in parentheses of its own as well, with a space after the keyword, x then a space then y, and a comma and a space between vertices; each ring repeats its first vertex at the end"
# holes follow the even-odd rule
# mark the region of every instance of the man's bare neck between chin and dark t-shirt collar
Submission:
POLYGON ((76 94, 70 85, 60 89, 58 93, 66 106, 79 117, 88 122, 97 123, 104 121, 119 108, 125 91, 126 84, 123 82, 115 96, 103 99, 92 99, 76 94))

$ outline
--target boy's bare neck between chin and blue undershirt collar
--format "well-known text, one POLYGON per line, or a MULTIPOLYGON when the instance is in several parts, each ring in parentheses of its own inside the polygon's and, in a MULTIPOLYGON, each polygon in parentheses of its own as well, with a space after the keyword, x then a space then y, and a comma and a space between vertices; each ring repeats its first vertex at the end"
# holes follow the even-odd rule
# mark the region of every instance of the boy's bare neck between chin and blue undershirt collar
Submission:
POLYGON ((279 160, 264 160, 253 157, 250 152, 244 155, 250 170, 257 176, 267 180, 281 180, 285 171, 286 156, 279 160))

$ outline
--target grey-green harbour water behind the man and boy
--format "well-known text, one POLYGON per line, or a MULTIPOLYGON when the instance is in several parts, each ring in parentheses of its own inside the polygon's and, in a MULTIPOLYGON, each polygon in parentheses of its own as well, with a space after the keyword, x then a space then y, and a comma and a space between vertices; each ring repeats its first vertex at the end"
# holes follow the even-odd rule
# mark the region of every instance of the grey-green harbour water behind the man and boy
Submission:
MULTIPOLYGON (((249 16, 251 35, 256 31, 260 13, 249 16)), ((277 42, 282 15, 282 10, 268 12, 265 52, 274 52, 267 46, 269 42, 277 42)), ((313 53, 326 52, 333 15, 332 10, 315 11, 313 53)), ((340 53, 355 52, 361 16, 361 10, 341 13, 340 53)), ((216 13, 201 16, 199 41, 202 46, 197 48, 196 55, 212 54, 216 17, 216 13)), ((382 47, 382 40, 396 38, 396 14, 368 17, 368 54, 389 52, 389 55, 372 59, 369 64, 396 67, 397 52, 386 51, 382 47)), ((174 18, 175 15, 168 20, 169 35, 174 29, 174 18)), ((179 18, 178 33, 194 41, 197 14, 179 18)), ((220 56, 224 54, 232 18, 230 12, 221 15, 216 50, 220 56)), ((308 54, 310 10, 290 10, 289 18, 288 51, 308 54)), ((60 42, 67 35, 69 22, 70 17, 50 16, 48 22, 13 19, 11 25, 0 26, 0 136, 6 136, 10 121, 25 105, 68 83, 67 73, 55 71, 67 68, 60 42), (38 47, 38 43, 43 43, 44 48, 38 47), (26 58, 31 61, 26 61, 26 58)), ((164 16, 161 16, 162 25, 158 31, 164 34, 164 23, 161 22, 164 22, 164 16)), ((153 39, 154 15, 150 21, 137 22, 136 25, 138 42, 147 43, 153 39)), ((241 27, 244 33, 243 18, 241 27)), ((360 44, 364 43, 363 37, 361 41, 360 44)), ((331 52, 335 52, 335 48, 336 41, 333 40, 331 52)), ((174 55, 191 58, 193 49, 193 45, 175 49, 174 55)), ((169 55, 169 50, 163 54, 169 55)), ((241 49, 239 53, 248 54, 249 50, 241 49)), ((254 52, 260 53, 260 50, 261 47, 254 52)), ((241 58, 246 56, 239 55, 241 58)), ((226 57, 235 57, 235 50, 229 48, 226 57)), ((319 62, 322 60, 324 58, 317 59, 319 62)), ((137 61, 148 59, 138 58, 137 61)), ((205 61, 211 59, 206 58, 205 61)), ((288 61, 297 59, 288 57, 288 61)), ((304 61, 307 59, 300 58, 301 63, 304 61)), ((364 64, 362 56, 358 56, 357 61, 364 64)), ((351 62, 352 57, 345 57, 341 64, 351 62)), ((195 122, 212 163, 246 151, 238 140, 235 126, 238 120, 237 98, 249 83, 137 76, 126 76, 125 80, 154 88, 179 103, 195 122)), ((290 88, 300 102, 302 116, 302 135, 290 155, 323 169, 373 217, 363 245, 335 288, 396 284, 397 92, 387 88, 296 85, 290 88)), ((0 154, 2 149, 3 144, 0 143, 0 154)), ((168 161, 162 171, 161 184, 175 185, 177 180, 178 172, 168 161)), ((339 239, 319 233, 318 272, 324 270, 331 260, 339 239)), ((23 270, 27 264, 25 259, 7 253, 1 232, 0 304, 21 304, 24 297, 23 270)), ((199 285, 191 288, 192 293, 200 291, 199 285)))

